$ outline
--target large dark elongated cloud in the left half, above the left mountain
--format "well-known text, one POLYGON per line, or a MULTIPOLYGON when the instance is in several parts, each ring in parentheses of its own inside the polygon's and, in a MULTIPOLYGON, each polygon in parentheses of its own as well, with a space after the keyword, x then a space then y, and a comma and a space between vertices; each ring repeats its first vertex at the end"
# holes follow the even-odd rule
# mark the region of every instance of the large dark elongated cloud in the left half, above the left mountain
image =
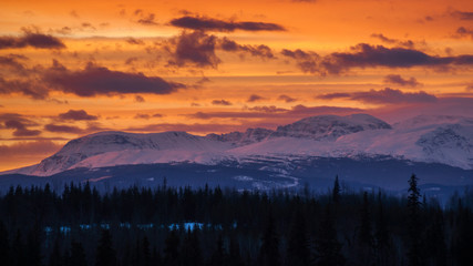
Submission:
POLYGON ((54 90, 79 96, 113 95, 127 93, 169 94, 184 84, 167 82, 158 76, 109 70, 89 63, 84 70, 70 71, 54 62, 43 80, 54 90))

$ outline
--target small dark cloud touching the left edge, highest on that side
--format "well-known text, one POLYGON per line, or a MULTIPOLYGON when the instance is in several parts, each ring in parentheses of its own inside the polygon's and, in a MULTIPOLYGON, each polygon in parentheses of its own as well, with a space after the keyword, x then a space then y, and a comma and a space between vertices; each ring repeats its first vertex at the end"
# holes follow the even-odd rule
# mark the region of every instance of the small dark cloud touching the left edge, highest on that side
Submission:
POLYGON ((65 44, 55 37, 33 32, 27 29, 23 29, 22 37, 0 37, 0 50, 20 49, 25 47, 32 47, 35 49, 64 49, 65 44))

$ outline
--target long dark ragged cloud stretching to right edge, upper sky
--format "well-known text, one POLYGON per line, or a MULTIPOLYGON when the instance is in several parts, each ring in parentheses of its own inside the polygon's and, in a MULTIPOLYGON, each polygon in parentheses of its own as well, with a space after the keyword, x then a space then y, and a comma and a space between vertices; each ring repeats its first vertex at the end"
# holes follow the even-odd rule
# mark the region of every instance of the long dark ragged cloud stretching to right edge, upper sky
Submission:
POLYGON ((315 52, 286 49, 281 54, 295 59, 304 72, 319 75, 340 74, 352 68, 432 68, 473 64, 472 54, 438 57, 414 49, 385 48, 367 43, 352 47, 351 52, 335 52, 325 57, 315 52))

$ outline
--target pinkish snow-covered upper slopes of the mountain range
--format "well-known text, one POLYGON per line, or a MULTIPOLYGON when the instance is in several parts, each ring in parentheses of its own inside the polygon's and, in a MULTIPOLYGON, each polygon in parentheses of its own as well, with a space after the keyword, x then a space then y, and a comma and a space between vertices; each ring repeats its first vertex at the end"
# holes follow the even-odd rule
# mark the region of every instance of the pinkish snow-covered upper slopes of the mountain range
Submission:
POLYGON ((173 162, 212 165, 253 156, 379 155, 472 170, 473 119, 424 115, 390 125, 368 114, 319 115, 275 131, 249 129, 207 136, 101 132, 73 140, 40 164, 16 173, 48 176, 78 167, 173 162))

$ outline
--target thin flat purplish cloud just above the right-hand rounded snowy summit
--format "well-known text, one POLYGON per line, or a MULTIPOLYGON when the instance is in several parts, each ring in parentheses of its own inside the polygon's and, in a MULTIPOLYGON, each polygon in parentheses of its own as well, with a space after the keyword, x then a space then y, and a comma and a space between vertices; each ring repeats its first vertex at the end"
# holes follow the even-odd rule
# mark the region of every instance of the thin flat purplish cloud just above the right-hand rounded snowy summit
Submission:
POLYGON ((436 102, 436 96, 428 94, 424 91, 419 92, 402 92, 385 88, 383 90, 370 90, 364 92, 352 93, 328 93, 318 96, 319 99, 333 100, 333 99, 349 99, 366 103, 432 103, 436 102))

